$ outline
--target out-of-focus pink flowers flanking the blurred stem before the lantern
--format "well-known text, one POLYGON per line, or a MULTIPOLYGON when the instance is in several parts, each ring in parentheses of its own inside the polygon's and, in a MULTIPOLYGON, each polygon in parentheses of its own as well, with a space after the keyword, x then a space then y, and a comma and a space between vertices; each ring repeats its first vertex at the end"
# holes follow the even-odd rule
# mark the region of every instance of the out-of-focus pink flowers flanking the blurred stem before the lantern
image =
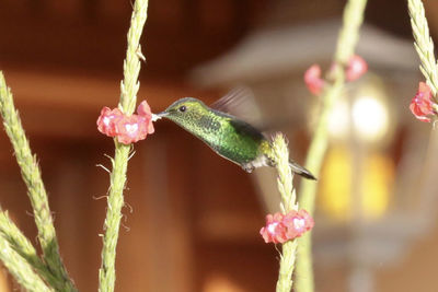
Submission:
MULTIPOLYGON (((333 70, 333 66, 332 69, 333 70)), ((354 81, 360 78, 368 70, 367 62, 360 56, 353 56, 346 68, 345 74, 347 81, 354 81)), ((325 81, 321 78, 321 67, 319 65, 312 65, 304 73, 304 82, 309 91, 315 95, 319 95, 324 87, 325 81)))

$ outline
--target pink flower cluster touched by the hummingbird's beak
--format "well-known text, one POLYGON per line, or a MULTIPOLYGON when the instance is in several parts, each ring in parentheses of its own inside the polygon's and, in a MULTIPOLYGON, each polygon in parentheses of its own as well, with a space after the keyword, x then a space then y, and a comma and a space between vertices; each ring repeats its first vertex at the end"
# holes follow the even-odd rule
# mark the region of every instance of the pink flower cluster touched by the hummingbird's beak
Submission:
POLYGON ((120 143, 130 144, 153 133, 152 113, 146 101, 137 107, 137 115, 130 116, 117 107, 111 109, 105 106, 97 119, 97 129, 108 137, 116 137, 120 143))

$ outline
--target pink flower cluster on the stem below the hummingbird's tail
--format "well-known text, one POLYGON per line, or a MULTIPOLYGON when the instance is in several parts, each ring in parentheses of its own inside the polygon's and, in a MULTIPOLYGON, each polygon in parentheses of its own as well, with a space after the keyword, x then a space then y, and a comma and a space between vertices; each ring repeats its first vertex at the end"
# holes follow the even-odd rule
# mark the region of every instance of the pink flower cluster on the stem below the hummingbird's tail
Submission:
POLYGON ((306 211, 290 211, 287 214, 275 213, 266 215, 266 225, 260 233, 265 243, 286 243, 300 237, 314 225, 313 218, 306 211))

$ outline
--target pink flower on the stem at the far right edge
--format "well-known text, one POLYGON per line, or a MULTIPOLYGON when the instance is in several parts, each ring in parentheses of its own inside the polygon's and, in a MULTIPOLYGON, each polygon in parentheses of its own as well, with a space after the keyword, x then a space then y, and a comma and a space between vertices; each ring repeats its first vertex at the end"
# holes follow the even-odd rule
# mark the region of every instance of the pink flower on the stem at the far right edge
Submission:
POLYGON ((419 82, 418 91, 414 98, 411 101, 410 109, 414 116, 422 121, 430 121, 430 115, 435 115, 434 102, 430 87, 424 83, 419 82))

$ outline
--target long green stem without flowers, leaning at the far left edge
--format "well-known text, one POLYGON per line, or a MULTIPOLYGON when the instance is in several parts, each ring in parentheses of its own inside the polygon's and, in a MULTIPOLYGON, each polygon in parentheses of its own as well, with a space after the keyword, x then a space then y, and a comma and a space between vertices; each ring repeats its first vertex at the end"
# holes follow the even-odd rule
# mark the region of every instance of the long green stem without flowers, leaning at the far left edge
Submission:
POLYGON ((0 72, 0 114, 3 118, 4 129, 14 149, 23 180, 27 186, 27 195, 34 211, 44 261, 50 272, 64 282, 62 291, 76 291, 59 255, 59 246, 48 207, 47 194, 36 157, 32 155, 19 113, 15 110, 13 104, 12 92, 7 86, 2 72, 0 72))

